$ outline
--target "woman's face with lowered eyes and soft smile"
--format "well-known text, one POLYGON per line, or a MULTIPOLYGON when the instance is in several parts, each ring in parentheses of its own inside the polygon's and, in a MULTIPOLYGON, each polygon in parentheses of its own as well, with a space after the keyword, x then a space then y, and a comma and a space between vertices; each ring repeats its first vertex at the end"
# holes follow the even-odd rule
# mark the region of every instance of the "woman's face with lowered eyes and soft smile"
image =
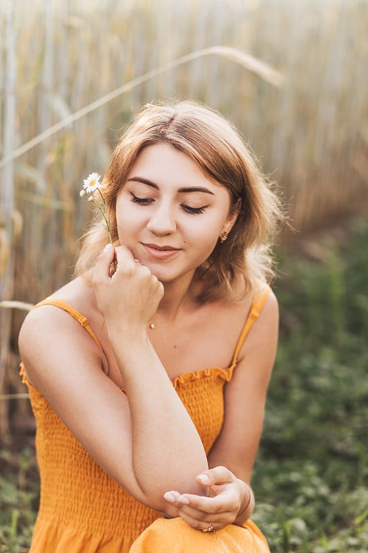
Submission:
POLYGON ((168 144, 139 153, 116 204, 119 241, 162 283, 193 274, 229 232, 230 194, 168 144))

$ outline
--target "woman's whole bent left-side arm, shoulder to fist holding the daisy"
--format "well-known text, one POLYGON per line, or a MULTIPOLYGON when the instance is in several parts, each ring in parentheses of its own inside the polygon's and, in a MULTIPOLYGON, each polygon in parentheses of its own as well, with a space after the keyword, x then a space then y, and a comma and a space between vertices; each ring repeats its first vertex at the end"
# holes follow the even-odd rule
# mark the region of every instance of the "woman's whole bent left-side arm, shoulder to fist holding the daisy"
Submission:
POLYGON ((53 306, 27 317, 21 357, 30 382, 99 465, 137 500, 170 514, 164 491, 205 493, 195 476, 208 465, 144 330, 162 297, 159 283, 128 250, 118 250, 113 277, 113 251, 100 257, 94 289, 126 395, 101 371, 104 359, 84 328, 53 306))

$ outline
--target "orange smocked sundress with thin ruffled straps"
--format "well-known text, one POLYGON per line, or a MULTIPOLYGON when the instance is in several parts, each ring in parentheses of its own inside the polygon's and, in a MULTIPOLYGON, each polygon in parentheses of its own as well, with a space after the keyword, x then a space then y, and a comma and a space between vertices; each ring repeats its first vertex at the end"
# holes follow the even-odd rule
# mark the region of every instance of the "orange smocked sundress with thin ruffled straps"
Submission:
MULTIPOLYGON (((173 382, 206 453, 222 427, 224 384, 231 380, 242 343, 268 294, 269 288, 253 301, 229 368, 204 368, 184 373, 173 382)), ((57 299, 46 299, 37 306, 45 304, 66 310, 97 341, 84 315, 57 299)), ((252 521, 246 521, 244 527, 229 525, 204 533, 180 517, 163 518, 139 503, 79 444, 43 395, 28 382, 23 364, 21 375, 35 414, 41 479, 30 553, 269 553, 266 538, 252 521)))

